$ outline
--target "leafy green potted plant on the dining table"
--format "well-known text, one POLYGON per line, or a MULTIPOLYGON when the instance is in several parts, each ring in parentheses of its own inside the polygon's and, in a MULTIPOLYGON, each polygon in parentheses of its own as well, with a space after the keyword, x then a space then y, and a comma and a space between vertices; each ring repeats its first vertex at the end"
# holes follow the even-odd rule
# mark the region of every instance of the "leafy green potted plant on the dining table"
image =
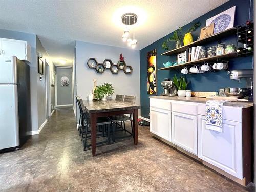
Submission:
POLYGON ((106 100, 107 97, 114 93, 112 84, 104 83, 101 86, 96 86, 94 90, 94 98, 97 100, 106 100))

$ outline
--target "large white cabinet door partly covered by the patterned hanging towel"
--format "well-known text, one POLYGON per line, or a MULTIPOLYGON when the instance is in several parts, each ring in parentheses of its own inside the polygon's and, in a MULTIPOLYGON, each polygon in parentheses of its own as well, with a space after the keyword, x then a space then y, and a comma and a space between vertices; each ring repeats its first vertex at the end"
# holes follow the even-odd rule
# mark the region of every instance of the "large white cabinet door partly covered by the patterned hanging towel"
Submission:
POLYGON ((242 123, 223 120, 222 132, 205 128, 205 116, 198 115, 198 157, 243 179, 242 123))

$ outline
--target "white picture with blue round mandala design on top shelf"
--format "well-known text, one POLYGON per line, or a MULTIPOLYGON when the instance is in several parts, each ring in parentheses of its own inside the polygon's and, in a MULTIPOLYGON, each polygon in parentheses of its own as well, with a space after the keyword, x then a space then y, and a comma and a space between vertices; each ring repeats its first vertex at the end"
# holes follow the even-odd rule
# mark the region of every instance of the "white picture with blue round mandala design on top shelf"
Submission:
POLYGON ((222 13, 206 20, 206 26, 214 23, 214 34, 234 27, 234 12, 236 6, 233 6, 222 13))

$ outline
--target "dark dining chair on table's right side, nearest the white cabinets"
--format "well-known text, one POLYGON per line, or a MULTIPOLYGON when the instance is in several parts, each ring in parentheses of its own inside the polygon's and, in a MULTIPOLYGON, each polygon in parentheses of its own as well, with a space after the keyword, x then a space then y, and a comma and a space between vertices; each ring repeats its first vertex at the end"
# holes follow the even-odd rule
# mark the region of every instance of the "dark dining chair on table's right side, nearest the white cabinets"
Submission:
MULTIPOLYGON (((136 96, 128 96, 128 95, 124 96, 124 102, 129 102, 129 103, 134 104, 135 100, 136 100, 136 96)), ((117 123, 119 123, 119 122, 121 123, 121 126, 122 126, 122 123, 123 123, 124 132, 128 132, 129 134, 131 134, 134 137, 132 114, 130 114, 130 117, 123 114, 123 115, 111 116, 111 117, 108 117, 108 118, 111 120, 112 126, 113 126, 113 134, 112 134, 113 142, 115 142, 115 131, 116 131, 115 129, 117 127, 117 126, 114 126, 114 124, 117 125, 117 123), (130 121, 132 133, 130 131, 126 130, 125 121, 130 121)))

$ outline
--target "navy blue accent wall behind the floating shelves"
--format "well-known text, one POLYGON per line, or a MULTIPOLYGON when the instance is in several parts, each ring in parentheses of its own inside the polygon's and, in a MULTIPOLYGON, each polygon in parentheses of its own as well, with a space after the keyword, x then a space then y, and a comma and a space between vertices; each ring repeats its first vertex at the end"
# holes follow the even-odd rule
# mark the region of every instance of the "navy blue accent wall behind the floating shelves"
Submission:
MULTIPOLYGON (((251 1, 251 14, 250 19, 253 19, 253 1, 251 1)), ((249 0, 231 0, 227 3, 221 5, 220 7, 206 13, 205 15, 202 15, 201 17, 195 19, 193 22, 183 26, 183 31, 187 31, 194 22, 197 22, 198 20, 201 22, 201 26, 194 31, 193 34, 193 40, 195 41, 200 36, 200 30, 202 27, 206 25, 206 20, 208 18, 211 18, 212 16, 215 16, 222 11, 225 11, 233 6, 236 6, 236 13, 235 13, 235 19, 234 19, 234 26, 240 25, 246 22, 249 17, 249 6, 250 1, 249 0)), ((166 25, 172 25, 172 21, 170 21, 169 24, 166 25)), ((178 28, 179 26, 177 26, 178 28)), ((173 33, 168 34, 167 36, 157 40, 153 44, 143 48, 140 50, 140 95, 141 95, 141 116, 148 117, 149 113, 149 95, 147 94, 147 86, 146 86, 146 53, 148 51, 151 51, 152 49, 157 49, 157 69, 164 67, 163 63, 170 61, 170 62, 176 62, 176 56, 161 56, 161 53, 165 52, 165 50, 162 49, 161 45, 163 41, 167 38, 173 35, 173 33)), ((231 35, 226 38, 222 39, 222 42, 225 42, 225 44, 235 44, 236 45, 236 35, 231 35)), ((211 42, 210 44, 205 44, 203 46, 209 47, 211 45, 217 45, 218 42, 211 42)), ((175 48, 175 42, 170 42, 170 50, 175 48)), ((229 59, 230 69, 252 69, 253 68, 253 57, 237 57, 229 59)), ((161 86, 161 81, 164 80, 164 78, 173 78, 174 74, 177 74, 177 76, 180 76, 180 70, 177 73, 175 70, 165 71, 165 70, 157 70, 157 95, 160 95, 160 93, 163 92, 163 88, 161 86)), ((192 91, 218 91, 219 88, 224 87, 244 87, 245 81, 241 81, 240 84, 238 84, 237 81, 232 81, 229 79, 229 76, 227 75, 227 71, 218 71, 218 72, 207 72, 204 74, 188 74, 186 75, 187 80, 189 81, 188 89, 191 89, 192 91)))

